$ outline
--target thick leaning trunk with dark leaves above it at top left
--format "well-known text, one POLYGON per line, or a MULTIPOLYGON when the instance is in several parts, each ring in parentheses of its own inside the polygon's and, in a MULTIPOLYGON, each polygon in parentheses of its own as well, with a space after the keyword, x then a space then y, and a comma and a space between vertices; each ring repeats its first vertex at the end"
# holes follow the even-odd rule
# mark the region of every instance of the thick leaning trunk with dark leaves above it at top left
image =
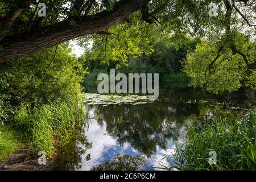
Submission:
MULTIPOLYGON (((1 0, 0 63, 89 34, 106 34, 115 23, 137 10, 152 23, 148 6, 161 10, 163 1, 150 0, 1 0), (46 16, 38 16, 40 3, 46 16)), ((156 13, 155 11, 155 13, 156 13)))

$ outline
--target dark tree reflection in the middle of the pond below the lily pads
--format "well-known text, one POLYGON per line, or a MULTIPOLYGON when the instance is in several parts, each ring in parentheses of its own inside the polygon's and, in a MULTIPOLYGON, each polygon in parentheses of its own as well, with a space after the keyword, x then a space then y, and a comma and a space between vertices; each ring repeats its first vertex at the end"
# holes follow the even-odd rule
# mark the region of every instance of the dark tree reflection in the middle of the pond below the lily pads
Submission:
POLYGON ((200 118, 199 104, 170 105, 158 101, 137 106, 112 105, 102 110, 94 108, 94 111, 98 125, 106 123, 106 131, 121 146, 130 143, 148 158, 156 152, 157 147, 166 150, 168 140, 183 137, 181 131, 184 131, 185 122, 200 118))

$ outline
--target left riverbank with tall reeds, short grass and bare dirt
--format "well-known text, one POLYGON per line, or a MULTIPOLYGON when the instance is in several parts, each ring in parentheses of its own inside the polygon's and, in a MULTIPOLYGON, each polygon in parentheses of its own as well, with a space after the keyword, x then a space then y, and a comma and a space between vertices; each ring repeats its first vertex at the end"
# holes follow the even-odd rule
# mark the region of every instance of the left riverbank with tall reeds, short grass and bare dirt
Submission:
POLYGON ((86 119, 81 98, 41 106, 20 105, 9 125, 0 127, 0 169, 37 170, 38 152, 48 158, 76 139, 86 119))

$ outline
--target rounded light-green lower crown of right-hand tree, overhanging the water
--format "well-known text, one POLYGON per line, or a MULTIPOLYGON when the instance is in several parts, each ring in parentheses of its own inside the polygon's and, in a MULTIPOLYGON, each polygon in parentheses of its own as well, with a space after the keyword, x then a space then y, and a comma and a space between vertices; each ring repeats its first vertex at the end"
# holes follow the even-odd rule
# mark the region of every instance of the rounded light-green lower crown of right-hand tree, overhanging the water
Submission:
POLYGON ((237 47, 245 53, 246 58, 234 54, 229 46, 224 46, 218 52, 221 43, 209 42, 204 40, 197 45, 195 52, 188 53, 185 73, 191 76, 191 85, 215 94, 234 92, 242 86, 256 90, 256 69, 250 67, 255 64, 255 42, 250 42, 243 35, 237 37, 237 47))

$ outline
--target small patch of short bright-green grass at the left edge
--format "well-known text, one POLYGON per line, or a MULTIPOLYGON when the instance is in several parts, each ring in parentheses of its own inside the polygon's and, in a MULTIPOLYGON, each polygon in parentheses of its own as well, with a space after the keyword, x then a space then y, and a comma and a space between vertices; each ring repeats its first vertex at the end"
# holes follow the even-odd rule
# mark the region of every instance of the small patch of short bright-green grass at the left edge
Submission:
POLYGON ((5 159, 19 147, 13 130, 0 125, 0 160, 5 159))

